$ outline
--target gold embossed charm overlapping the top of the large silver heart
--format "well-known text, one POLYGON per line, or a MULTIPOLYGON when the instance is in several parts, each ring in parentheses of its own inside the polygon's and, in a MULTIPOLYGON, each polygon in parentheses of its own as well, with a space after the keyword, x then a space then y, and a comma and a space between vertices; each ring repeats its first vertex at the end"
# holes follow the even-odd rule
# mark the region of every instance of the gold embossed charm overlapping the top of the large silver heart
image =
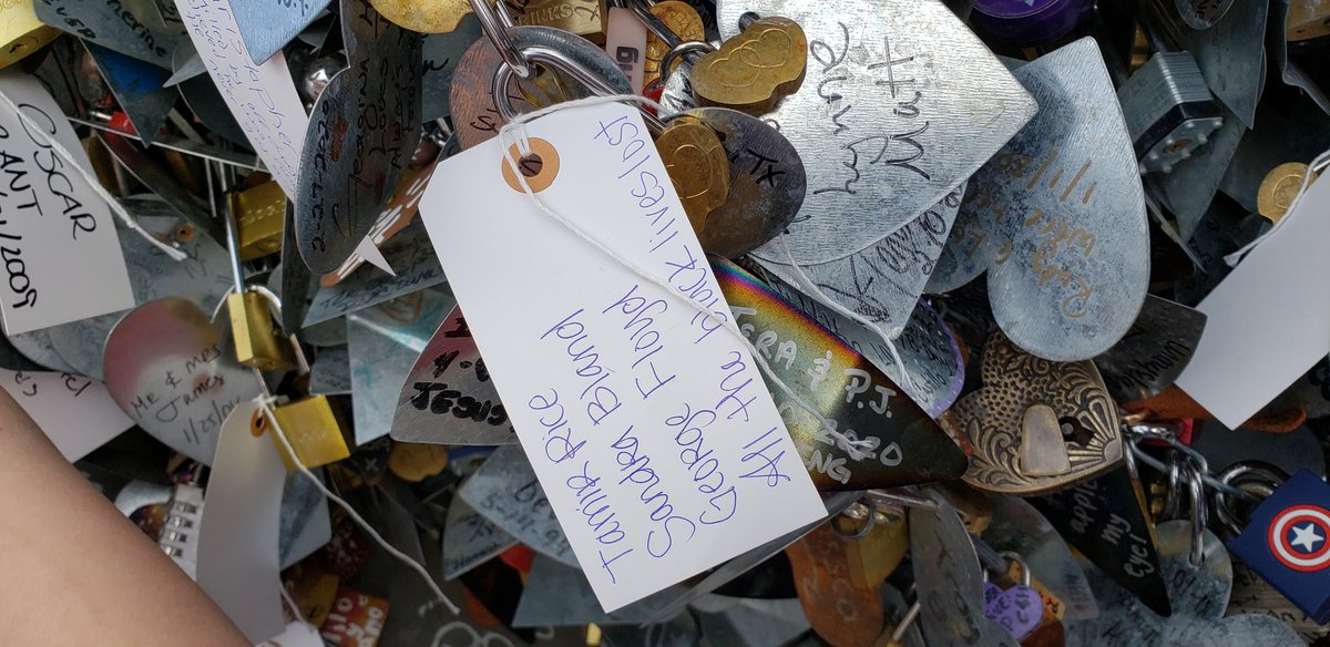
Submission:
POLYGON ((749 25, 693 66, 701 106, 733 108, 759 117, 803 85, 809 40, 798 23, 770 16, 749 25))

